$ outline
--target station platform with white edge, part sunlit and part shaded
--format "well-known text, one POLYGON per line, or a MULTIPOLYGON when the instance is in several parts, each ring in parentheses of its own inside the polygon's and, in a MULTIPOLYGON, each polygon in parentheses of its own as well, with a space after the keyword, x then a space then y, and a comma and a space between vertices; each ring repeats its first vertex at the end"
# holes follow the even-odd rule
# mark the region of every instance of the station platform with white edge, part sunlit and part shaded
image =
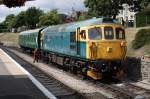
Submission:
POLYGON ((17 65, 0 49, 0 99, 48 99, 17 65))

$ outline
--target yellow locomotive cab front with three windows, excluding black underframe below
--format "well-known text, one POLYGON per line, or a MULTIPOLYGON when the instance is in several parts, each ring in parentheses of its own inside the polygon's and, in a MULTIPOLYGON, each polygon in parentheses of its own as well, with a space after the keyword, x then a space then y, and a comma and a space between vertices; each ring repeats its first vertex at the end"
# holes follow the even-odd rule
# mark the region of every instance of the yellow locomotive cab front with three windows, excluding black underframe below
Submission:
POLYGON ((124 29, 116 24, 103 24, 88 29, 87 58, 122 60, 126 56, 124 29))

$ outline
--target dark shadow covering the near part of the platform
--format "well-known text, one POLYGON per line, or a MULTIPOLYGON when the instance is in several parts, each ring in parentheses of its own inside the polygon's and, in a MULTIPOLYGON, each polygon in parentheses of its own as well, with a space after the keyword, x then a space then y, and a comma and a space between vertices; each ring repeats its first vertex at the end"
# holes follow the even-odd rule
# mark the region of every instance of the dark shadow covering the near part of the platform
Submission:
POLYGON ((0 75, 0 99, 47 99, 26 75, 0 75))

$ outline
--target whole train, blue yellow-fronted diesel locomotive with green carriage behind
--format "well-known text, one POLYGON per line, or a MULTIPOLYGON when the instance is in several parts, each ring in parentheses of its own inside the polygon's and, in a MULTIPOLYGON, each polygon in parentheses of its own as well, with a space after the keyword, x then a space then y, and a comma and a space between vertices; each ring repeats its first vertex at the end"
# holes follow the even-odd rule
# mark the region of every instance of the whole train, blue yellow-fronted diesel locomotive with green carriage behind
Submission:
POLYGON ((113 19, 93 18, 21 32, 22 49, 40 49, 41 59, 57 63, 74 73, 102 79, 120 78, 126 57, 124 28, 113 19))

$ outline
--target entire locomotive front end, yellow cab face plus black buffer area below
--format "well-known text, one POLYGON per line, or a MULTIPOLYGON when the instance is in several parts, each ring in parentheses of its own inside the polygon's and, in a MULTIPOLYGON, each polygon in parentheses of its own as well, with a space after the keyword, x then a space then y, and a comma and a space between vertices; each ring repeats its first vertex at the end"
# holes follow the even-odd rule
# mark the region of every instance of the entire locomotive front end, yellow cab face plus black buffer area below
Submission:
POLYGON ((84 27, 86 30, 86 58, 90 61, 87 75, 102 79, 104 74, 120 78, 123 74, 121 61, 126 57, 125 30, 114 23, 84 27))

